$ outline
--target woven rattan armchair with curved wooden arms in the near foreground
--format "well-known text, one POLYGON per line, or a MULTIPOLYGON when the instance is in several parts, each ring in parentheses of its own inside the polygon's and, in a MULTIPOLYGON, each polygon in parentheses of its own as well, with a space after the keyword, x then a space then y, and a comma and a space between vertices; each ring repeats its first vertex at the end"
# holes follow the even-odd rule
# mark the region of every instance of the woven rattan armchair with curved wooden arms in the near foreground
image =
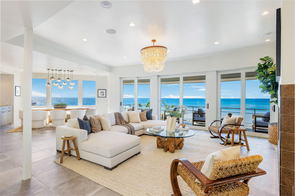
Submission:
POLYGON ((249 194, 248 182, 252 177, 266 174, 258 168, 263 158, 260 155, 215 162, 212 174, 207 178, 200 170, 205 161, 191 163, 175 159, 171 164, 170 179, 173 195, 181 195, 177 176, 191 187, 196 195, 244 196, 249 194), (178 165, 178 163, 181 163, 178 165), (201 184, 195 182, 198 179, 201 184))

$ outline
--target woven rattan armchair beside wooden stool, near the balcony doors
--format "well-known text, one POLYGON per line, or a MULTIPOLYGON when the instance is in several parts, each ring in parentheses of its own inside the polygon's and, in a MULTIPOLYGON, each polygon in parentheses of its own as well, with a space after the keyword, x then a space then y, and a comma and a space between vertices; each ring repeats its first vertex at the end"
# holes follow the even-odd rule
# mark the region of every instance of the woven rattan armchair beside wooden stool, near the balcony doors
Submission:
MULTIPOLYGON (((221 136, 221 134, 222 134, 222 133, 225 133, 225 134, 228 133, 228 130, 225 129, 224 127, 225 127, 226 125, 244 126, 244 125, 241 125, 241 123, 242 123, 243 120, 244 120, 244 118, 240 116, 240 117, 238 118, 238 121, 237 121, 236 124, 224 124, 224 125, 222 125, 222 126, 220 126, 220 127, 212 126, 212 124, 215 123, 215 122, 217 122, 217 121, 222 122, 222 120, 213 120, 213 121, 210 123, 209 128, 208 128, 208 130, 209 130, 209 132, 211 133, 211 135, 213 135, 213 136, 210 136, 210 138, 220 138, 221 141, 222 141, 222 142, 220 142, 220 144, 224 145, 225 137, 224 137, 224 136, 221 136), (215 133, 217 133, 218 135, 214 135, 212 132, 215 132, 215 133)), ((235 134, 239 134, 239 131, 235 131, 235 134)))

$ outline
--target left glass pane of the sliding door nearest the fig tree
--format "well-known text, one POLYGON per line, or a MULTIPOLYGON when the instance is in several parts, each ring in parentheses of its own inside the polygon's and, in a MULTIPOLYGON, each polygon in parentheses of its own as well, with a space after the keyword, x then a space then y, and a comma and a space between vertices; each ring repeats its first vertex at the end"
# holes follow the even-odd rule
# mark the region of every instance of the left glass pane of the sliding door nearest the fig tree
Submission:
POLYGON ((241 73, 221 74, 220 83, 221 117, 228 113, 241 113, 241 73))

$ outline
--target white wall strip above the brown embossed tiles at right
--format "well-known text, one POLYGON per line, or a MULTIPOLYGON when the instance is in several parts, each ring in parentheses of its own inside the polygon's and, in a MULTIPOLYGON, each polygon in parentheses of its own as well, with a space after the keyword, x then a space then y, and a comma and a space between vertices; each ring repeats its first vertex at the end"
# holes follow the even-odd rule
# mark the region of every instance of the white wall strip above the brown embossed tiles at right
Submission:
POLYGON ((294 1, 282 1, 281 8, 281 84, 294 84, 294 1))

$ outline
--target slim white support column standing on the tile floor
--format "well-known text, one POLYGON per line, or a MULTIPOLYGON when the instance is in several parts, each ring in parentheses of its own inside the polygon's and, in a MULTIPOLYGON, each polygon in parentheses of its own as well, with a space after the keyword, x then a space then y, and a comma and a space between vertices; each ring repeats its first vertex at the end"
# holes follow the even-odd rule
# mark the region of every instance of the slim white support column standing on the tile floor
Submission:
POLYGON ((23 153, 22 179, 32 174, 32 62, 33 28, 24 27, 24 82, 23 82, 23 153))

